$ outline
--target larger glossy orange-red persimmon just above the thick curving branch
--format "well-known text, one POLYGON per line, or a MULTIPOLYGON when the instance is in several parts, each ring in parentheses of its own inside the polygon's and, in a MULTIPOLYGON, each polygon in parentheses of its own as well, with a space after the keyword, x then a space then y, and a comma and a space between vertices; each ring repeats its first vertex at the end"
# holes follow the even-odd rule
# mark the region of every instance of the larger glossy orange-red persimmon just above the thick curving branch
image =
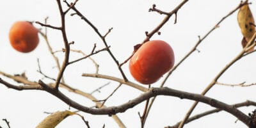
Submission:
POLYGON ((152 84, 173 67, 174 61, 173 49, 169 44, 162 40, 151 40, 134 53, 129 70, 136 81, 152 84))

